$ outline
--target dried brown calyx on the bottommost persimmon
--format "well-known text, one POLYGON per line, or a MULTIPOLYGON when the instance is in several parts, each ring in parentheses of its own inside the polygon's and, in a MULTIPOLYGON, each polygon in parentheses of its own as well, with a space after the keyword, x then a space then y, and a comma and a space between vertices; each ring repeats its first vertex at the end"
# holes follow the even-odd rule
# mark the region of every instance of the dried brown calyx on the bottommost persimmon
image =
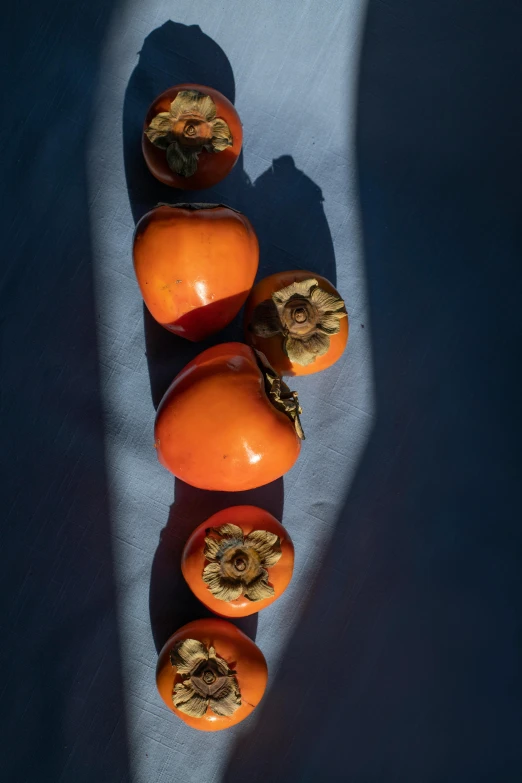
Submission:
POLYGON ((236 672, 214 647, 185 639, 171 650, 170 662, 182 678, 172 692, 172 703, 180 712, 202 718, 210 708, 215 715, 230 716, 241 706, 236 672))

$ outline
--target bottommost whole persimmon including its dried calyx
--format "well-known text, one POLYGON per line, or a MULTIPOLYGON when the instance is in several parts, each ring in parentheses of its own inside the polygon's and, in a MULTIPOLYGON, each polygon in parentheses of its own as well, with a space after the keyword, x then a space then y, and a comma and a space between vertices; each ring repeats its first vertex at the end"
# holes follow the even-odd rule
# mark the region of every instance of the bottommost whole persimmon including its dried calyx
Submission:
POLYGON ((259 647, 235 625, 215 617, 176 631, 156 667, 164 703, 200 731, 220 731, 248 717, 261 701, 267 679, 259 647))

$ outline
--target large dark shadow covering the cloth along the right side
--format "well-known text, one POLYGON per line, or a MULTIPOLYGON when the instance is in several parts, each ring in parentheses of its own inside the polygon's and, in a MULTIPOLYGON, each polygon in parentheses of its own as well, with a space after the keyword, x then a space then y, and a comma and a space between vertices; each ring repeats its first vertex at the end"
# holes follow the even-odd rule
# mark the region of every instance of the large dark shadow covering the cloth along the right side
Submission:
POLYGON ((377 418, 227 783, 521 779, 521 26, 507 1, 370 0, 377 418))

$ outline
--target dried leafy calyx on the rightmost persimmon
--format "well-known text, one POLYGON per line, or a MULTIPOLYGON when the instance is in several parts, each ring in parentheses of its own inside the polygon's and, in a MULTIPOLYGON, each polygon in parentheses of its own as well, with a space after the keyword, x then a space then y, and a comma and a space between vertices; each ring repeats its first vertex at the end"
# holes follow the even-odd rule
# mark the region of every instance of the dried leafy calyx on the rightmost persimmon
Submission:
POLYGON ((330 337, 346 318, 344 301, 321 288, 315 278, 281 288, 254 309, 249 328, 258 337, 283 337, 291 362, 306 367, 323 356, 330 337))

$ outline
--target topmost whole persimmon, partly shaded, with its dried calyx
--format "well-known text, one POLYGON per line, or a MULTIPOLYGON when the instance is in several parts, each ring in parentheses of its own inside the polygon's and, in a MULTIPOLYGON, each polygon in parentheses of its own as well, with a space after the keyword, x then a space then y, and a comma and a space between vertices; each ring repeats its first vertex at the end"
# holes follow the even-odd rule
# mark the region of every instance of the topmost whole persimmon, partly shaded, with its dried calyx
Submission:
POLYGON ((203 190, 232 170, 243 130, 230 101, 200 84, 177 84, 150 106, 142 149, 150 172, 165 185, 203 190))

